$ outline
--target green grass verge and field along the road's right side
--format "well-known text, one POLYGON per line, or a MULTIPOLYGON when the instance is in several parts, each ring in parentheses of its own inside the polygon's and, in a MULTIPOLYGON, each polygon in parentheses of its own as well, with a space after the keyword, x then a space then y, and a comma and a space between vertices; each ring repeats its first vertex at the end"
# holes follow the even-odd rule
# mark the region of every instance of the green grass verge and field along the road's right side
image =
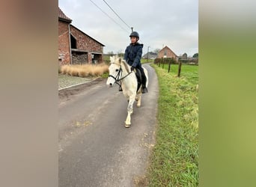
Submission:
POLYGON ((157 67, 159 79, 156 145, 148 186, 198 186, 198 66, 157 67))

